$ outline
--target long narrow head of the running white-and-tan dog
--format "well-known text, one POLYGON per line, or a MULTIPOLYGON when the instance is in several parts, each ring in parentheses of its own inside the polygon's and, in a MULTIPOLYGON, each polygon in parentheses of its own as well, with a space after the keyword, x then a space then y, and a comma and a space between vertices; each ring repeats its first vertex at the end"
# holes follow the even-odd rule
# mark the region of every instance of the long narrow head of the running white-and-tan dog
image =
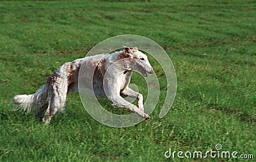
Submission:
POLYGON ((154 73, 151 64, 148 61, 147 55, 138 50, 137 47, 125 47, 125 55, 131 59, 130 68, 132 71, 140 71, 143 77, 147 77, 147 73, 154 73))

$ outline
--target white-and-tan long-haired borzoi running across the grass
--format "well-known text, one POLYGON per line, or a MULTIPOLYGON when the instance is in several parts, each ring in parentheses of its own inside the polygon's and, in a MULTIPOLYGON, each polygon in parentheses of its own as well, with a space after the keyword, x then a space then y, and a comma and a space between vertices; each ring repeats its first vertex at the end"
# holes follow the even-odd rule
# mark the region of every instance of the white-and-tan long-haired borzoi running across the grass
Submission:
POLYGON ((47 110, 43 121, 50 122, 56 113, 64 109, 67 92, 77 89, 78 75, 82 64, 88 70, 93 68, 95 70, 93 74, 93 91, 95 94, 108 96, 114 105, 128 108, 145 119, 150 118, 144 112, 142 94, 133 91, 128 86, 132 71, 140 71, 143 77, 147 77, 147 73, 154 73, 147 55, 140 52, 137 47, 125 47, 125 50, 114 54, 93 55, 65 63, 51 77, 47 78, 45 85, 38 91, 34 94, 14 96, 13 103, 18 105, 17 109, 22 108, 23 111, 27 112, 30 112, 33 107, 39 107, 35 117, 47 110), (107 79, 108 82, 104 83, 104 79, 107 79), (122 98, 122 94, 138 99, 138 107, 122 98))

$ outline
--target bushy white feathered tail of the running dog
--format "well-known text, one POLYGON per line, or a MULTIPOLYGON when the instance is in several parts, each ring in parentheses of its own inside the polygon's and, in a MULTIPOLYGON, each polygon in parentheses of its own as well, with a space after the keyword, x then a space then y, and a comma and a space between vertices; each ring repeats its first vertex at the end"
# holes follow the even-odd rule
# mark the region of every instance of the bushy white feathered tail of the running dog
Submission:
POLYGON ((43 87, 38 89, 34 94, 20 94, 13 98, 13 103, 17 104, 18 107, 15 110, 22 109, 23 112, 30 112, 31 108, 38 107, 45 103, 49 92, 49 86, 45 84, 43 87))

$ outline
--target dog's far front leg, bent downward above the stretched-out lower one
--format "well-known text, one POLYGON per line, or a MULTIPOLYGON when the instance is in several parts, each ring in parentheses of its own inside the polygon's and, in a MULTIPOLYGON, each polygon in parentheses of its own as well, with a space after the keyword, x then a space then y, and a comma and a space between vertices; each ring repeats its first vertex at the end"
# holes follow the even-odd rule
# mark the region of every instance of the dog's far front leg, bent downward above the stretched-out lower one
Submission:
POLYGON ((144 112, 144 106, 143 106, 143 96, 139 92, 133 91, 131 88, 127 87, 122 91, 122 94, 129 96, 131 98, 138 99, 138 108, 144 112))

